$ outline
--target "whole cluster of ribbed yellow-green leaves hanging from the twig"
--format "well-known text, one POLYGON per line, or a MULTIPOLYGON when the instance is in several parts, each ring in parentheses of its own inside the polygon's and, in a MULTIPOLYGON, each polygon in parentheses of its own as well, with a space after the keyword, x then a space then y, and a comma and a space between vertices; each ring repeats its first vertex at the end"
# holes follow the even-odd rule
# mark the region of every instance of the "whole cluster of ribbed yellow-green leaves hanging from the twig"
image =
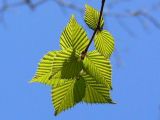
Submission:
MULTIPOLYGON (((100 12, 86 5, 85 22, 91 29, 96 29, 99 16, 100 12)), ((60 38, 62 50, 48 52, 39 63, 31 82, 52 87, 55 115, 79 102, 114 103, 110 96, 112 68, 109 61, 114 40, 103 30, 103 17, 100 23, 94 38, 95 50, 87 52, 84 59, 81 55, 89 39, 72 16, 60 38)))

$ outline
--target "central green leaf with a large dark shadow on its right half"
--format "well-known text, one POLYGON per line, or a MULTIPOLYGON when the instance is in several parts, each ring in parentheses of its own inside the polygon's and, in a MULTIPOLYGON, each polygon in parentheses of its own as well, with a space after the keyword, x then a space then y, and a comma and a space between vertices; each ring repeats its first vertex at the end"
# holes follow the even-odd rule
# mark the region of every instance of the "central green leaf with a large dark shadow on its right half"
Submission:
POLYGON ((75 79, 82 70, 82 64, 80 53, 70 48, 62 50, 54 57, 52 75, 61 72, 60 79, 75 79))

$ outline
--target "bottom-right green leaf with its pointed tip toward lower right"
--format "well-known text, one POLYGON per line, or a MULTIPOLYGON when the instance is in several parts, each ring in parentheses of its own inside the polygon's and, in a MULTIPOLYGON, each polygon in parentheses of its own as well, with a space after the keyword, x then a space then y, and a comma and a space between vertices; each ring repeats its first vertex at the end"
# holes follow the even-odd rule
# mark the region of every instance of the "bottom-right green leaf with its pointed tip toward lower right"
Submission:
POLYGON ((110 89, 106 85, 98 83, 87 73, 83 74, 82 78, 86 84, 83 101, 86 103, 113 103, 110 97, 110 89))

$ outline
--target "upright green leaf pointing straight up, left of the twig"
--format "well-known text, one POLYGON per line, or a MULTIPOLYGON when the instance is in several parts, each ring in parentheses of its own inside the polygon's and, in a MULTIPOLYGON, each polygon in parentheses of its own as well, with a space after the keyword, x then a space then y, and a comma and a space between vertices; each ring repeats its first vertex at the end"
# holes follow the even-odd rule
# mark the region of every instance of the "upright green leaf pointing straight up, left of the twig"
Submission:
POLYGON ((74 16, 71 17, 70 22, 66 26, 60 38, 60 45, 62 49, 73 48, 79 52, 84 51, 88 45, 89 40, 85 30, 77 23, 74 16))

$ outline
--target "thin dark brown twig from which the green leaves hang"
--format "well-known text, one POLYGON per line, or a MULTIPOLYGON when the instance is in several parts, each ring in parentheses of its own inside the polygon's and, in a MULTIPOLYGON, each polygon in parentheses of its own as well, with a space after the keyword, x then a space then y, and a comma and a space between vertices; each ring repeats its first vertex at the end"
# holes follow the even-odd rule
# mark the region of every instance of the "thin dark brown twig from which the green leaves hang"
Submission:
POLYGON ((104 9, 104 5, 105 5, 105 0, 102 0, 102 5, 101 5, 101 10, 100 10, 100 16, 99 16, 99 20, 98 20, 98 24, 96 29, 93 32, 93 35, 91 37, 91 40, 89 41, 89 44, 87 45, 86 49, 81 53, 81 60, 83 60, 87 54, 87 51, 89 49, 89 46, 91 45, 91 43, 93 42, 93 39, 97 33, 97 31, 100 30, 100 25, 101 25, 101 19, 102 19, 102 15, 103 15, 103 9, 104 9))

